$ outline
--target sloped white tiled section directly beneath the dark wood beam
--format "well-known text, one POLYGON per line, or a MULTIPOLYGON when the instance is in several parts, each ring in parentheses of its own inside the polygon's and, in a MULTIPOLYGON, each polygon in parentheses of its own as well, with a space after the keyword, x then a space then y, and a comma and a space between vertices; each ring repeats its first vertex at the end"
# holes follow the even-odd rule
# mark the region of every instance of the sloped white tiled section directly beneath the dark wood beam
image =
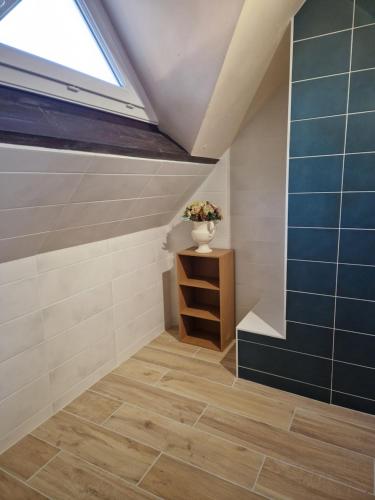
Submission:
POLYGON ((0 145, 0 262, 167 224, 213 168, 0 145))

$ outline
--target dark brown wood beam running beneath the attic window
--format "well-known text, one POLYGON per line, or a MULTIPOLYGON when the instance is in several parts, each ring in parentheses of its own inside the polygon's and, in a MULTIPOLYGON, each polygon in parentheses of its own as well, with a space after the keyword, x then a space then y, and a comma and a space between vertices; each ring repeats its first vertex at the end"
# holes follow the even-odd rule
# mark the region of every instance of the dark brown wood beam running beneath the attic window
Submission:
POLYGON ((191 156, 156 125, 0 85, 0 142, 142 158, 191 156))

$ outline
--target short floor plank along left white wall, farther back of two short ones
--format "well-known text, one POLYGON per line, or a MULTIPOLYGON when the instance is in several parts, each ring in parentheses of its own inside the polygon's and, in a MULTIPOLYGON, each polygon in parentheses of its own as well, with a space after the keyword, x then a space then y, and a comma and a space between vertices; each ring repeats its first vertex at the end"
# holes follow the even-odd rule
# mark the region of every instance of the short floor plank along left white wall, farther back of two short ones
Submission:
POLYGON ((86 391, 66 406, 65 410, 95 424, 101 424, 120 406, 120 401, 86 391))

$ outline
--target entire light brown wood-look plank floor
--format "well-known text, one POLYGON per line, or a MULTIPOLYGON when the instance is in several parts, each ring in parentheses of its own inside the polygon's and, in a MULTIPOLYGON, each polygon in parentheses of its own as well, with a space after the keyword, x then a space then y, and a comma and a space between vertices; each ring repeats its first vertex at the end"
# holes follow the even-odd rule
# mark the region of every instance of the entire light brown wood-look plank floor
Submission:
POLYGON ((375 417, 163 333, 0 456, 0 498, 374 500, 375 417))

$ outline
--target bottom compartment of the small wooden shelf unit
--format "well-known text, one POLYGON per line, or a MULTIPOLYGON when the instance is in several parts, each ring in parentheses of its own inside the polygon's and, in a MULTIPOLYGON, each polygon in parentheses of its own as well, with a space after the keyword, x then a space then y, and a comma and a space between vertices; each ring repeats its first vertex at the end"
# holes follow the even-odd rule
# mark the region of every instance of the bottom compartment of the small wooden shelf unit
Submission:
POLYGON ((182 342, 220 351, 220 324, 217 322, 181 315, 180 332, 182 342))

